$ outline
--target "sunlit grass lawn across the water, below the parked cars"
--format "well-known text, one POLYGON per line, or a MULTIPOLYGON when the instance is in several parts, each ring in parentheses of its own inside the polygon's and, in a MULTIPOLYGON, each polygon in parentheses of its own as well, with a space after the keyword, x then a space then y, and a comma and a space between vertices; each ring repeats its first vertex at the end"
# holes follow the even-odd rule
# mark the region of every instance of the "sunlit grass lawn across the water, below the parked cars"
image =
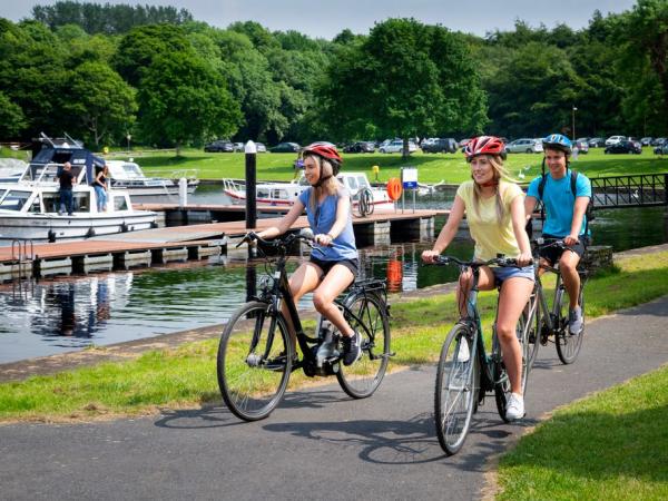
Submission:
MULTIPOLYGON (((169 176, 178 169, 197 169, 202 179, 222 179, 225 177, 245 178, 244 154, 205 154, 202 150, 185 149, 180 157, 174 153, 148 154, 134 156, 135 160, 147 174, 169 176)), ((261 180, 289 180, 293 178, 295 154, 258 154, 257 178, 261 180)), ((518 176, 524 173, 529 181, 540 173, 542 155, 511 154, 505 163, 509 171, 518 176), (524 170, 529 167, 528 170, 524 170)), ((461 153, 425 155, 415 153, 407 160, 401 155, 382 154, 345 154, 344 169, 365 171, 373 180, 372 166, 381 168, 379 180, 387 181, 400 175, 400 168, 413 166, 419 169, 421 183, 460 184, 470 178, 470 169, 461 153)), ((668 158, 654 155, 645 148, 642 155, 605 155, 601 148, 591 149, 588 155, 580 155, 573 166, 590 177, 656 174, 668 171, 668 158)))

